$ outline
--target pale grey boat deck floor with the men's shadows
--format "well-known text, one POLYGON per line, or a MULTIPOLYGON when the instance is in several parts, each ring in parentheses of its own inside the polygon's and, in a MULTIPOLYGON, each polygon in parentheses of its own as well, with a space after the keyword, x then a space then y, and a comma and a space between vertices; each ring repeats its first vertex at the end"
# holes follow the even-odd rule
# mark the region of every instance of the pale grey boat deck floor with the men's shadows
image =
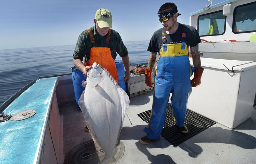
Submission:
MULTIPOLYGON (((146 122, 137 114, 151 109, 153 92, 130 98, 120 140, 124 155, 117 164, 255 164, 256 163, 256 108, 252 117, 231 130, 219 123, 191 137, 178 146, 163 137, 148 145, 139 142, 145 136, 146 122)), ((75 101, 59 105, 63 155, 75 145, 92 140, 84 131, 85 121, 75 101)), ((61 162, 60 162, 61 163, 61 162)))

